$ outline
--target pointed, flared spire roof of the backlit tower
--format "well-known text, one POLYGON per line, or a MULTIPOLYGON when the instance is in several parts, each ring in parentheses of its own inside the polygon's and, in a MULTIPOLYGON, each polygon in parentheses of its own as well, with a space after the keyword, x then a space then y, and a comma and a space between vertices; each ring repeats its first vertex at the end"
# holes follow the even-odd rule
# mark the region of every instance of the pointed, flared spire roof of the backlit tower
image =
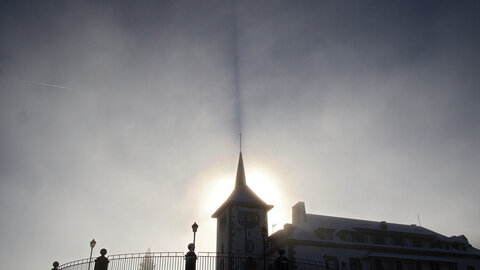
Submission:
POLYGON ((217 211, 215 211, 215 213, 213 213, 212 217, 217 218, 225 208, 233 205, 260 208, 267 211, 273 208, 273 205, 266 204, 257 194, 255 194, 255 192, 253 192, 253 190, 250 189, 250 187, 248 187, 241 152, 238 160, 235 188, 228 199, 217 209, 217 211))

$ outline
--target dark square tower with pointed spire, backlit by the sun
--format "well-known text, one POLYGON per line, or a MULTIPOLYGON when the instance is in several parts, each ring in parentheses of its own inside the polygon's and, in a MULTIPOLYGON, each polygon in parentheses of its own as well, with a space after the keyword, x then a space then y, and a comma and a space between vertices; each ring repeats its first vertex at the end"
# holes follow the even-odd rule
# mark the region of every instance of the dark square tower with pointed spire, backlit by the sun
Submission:
POLYGON ((261 255, 262 229, 268 228, 267 212, 272 208, 247 186, 240 152, 235 188, 212 215, 217 219, 217 252, 261 255))

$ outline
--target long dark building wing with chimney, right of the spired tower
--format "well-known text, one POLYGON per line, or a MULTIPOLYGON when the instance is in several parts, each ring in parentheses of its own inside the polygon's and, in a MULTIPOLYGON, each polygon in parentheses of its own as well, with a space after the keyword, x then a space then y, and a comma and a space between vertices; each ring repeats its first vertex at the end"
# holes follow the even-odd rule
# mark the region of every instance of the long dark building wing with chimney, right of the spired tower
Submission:
POLYGON ((307 214, 269 237, 269 252, 323 261, 327 270, 479 270, 480 250, 463 235, 446 237, 417 225, 307 214))

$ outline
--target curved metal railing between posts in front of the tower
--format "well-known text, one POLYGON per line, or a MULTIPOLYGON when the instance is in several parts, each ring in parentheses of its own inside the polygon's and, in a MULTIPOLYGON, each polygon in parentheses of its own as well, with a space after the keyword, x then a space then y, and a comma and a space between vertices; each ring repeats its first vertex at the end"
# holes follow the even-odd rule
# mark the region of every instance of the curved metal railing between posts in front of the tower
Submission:
MULTIPOLYGON (((172 270, 185 269, 185 253, 146 252, 107 256, 108 270, 172 270)), ((215 252, 197 253, 196 270, 273 270, 275 257, 245 256, 244 254, 223 254, 215 252)), ((60 265, 61 270, 94 269, 95 258, 82 259, 60 265), (90 264, 90 267, 89 267, 90 264)), ((326 270, 321 261, 290 258, 291 270, 326 270)))

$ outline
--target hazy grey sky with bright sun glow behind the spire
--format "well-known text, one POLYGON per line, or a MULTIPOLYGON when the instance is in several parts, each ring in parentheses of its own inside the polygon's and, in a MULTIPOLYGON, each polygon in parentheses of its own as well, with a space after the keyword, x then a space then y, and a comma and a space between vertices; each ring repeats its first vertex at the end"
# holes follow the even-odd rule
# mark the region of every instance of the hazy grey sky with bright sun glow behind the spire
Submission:
POLYGON ((215 251, 234 185, 480 247, 480 2, 2 1, 0 268, 215 251), (25 257, 28 257, 25 259, 25 257))

